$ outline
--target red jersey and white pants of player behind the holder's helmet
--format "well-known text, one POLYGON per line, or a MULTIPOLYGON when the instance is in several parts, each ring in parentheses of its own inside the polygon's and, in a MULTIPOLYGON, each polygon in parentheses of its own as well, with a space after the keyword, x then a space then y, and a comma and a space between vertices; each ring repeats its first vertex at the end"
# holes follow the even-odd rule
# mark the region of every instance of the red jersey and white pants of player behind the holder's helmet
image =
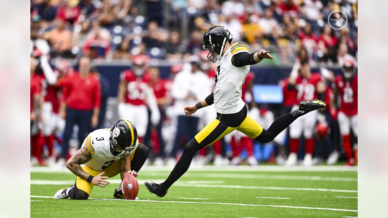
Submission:
POLYGON ((147 106, 151 109, 151 117, 154 113, 158 113, 160 118, 154 92, 149 86, 151 77, 147 73, 141 77, 136 77, 131 70, 125 70, 121 73, 120 78, 121 81, 126 81, 127 90, 125 105, 119 106, 119 116, 130 120, 136 126, 138 136, 144 137, 148 125, 147 106), (155 106, 156 111, 153 108, 155 106))

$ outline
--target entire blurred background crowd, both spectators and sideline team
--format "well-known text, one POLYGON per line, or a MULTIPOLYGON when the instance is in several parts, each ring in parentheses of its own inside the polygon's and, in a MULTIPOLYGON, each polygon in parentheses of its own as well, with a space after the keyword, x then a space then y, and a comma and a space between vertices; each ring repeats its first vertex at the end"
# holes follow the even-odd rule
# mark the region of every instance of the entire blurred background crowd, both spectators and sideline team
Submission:
POLYGON ((324 99, 328 106, 265 145, 234 131, 201 149, 196 164, 311 166, 324 159, 334 164, 341 155, 347 165, 357 163, 357 1, 33 0, 31 165, 64 166, 90 131, 110 128, 117 120, 106 120, 117 114, 136 126, 139 142, 150 148, 148 161, 174 166, 184 145, 215 118, 212 106, 190 117, 183 108, 213 90, 215 65, 202 45, 204 31, 216 24, 229 28, 234 42, 270 50, 277 64, 293 64, 279 81, 284 102, 276 110, 253 100, 255 73, 245 80, 242 99, 264 128, 301 99, 324 99), (349 19, 338 31, 327 24, 336 9, 349 19), (161 79, 155 58, 184 64, 172 65, 161 79), (128 68, 112 84, 93 59, 128 60, 128 68), (312 71, 333 63, 340 74, 312 71), (108 104, 110 87, 118 87, 117 107, 108 104))

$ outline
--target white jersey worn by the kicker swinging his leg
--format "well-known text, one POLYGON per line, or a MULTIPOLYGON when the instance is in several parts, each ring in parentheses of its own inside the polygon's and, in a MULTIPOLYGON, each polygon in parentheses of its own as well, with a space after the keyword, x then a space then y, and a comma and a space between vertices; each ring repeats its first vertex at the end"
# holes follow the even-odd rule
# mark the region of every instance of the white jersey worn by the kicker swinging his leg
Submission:
POLYGON ((249 52, 245 43, 236 42, 230 46, 221 60, 216 62, 214 87, 214 107, 221 114, 233 114, 241 111, 245 103, 241 99, 241 87, 249 73, 250 65, 235 67, 232 57, 241 52, 249 52))

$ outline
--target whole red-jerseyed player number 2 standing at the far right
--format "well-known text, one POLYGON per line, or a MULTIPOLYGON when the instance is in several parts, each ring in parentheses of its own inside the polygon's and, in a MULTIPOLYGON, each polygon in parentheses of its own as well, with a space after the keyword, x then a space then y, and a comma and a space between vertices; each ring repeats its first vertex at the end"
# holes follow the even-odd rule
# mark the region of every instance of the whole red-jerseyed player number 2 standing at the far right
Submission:
MULTIPOLYGON (((338 125, 340 126, 340 133, 342 135, 343 147, 345 149, 346 157, 348 158, 348 163, 346 165, 354 165, 354 158, 352 154, 352 148, 350 145, 350 128, 352 128, 353 133, 357 139, 357 85, 358 77, 355 74, 356 66, 353 57, 348 57, 342 66, 343 75, 339 75, 335 78, 334 84, 335 88, 333 90, 333 95, 341 96, 341 105, 338 110, 338 114, 334 107, 334 99, 331 100, 330 107, 333 118, 338 118, 338 125)), ((357 156, 357 145, 355 146, 355 156, 357 156)))

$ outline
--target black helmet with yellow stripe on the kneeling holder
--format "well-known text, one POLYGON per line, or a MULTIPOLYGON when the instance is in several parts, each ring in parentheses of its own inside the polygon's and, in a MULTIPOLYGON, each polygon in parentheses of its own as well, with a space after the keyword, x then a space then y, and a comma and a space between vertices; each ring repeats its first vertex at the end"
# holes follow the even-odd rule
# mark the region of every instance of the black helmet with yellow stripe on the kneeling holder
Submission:
POLYGON ((111 128, 111 152, 114 156, 127 156, 136 147, 137 131, 135 126, 126 119, 120 119, 111 128), (119 150, 120 149, 120 150, 119 150))

